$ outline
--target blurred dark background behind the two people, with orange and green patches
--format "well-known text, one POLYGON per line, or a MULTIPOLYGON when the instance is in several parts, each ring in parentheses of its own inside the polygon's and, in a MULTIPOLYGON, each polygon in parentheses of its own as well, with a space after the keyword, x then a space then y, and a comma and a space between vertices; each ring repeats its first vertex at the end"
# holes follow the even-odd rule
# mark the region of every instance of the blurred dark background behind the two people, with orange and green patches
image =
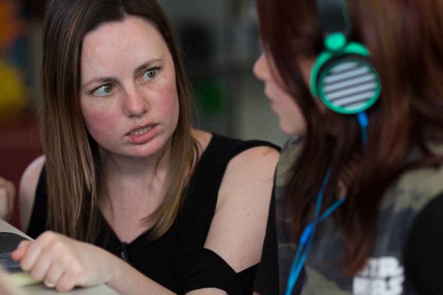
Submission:
MULTIPOLYGON (((252 74, 261 52, 254 0, 159 0, 183 51, 198 110, 196 125, 282 146, 287 135, 252 74)), ((0 0, 0 176, 18 190, 42 153, 39 98, 45 0, 0 0)), ((16 199, 17 200, 17 199, 16 199)), ((11 224, 20 228, 15 206, 11 224)))

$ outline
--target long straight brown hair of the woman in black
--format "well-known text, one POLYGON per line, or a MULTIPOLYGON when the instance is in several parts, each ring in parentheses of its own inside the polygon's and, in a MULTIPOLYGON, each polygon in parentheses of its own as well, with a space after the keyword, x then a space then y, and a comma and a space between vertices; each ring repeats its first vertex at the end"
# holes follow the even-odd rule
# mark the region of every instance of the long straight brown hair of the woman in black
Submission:
POLYGON ((191 135, 189 83, 171 25, 155 0, 50 0, 43 26, 40 123, 46 155, 49 229, 93 242, 97 234, 100 159, 97 143, 85 128, 79 105, 80 54, 86 33, 128 15, 155 24, 172 55, 179 118, 171 141, 164 199, 146 224, 155 221, 149 240, 172 225, 186 191, 198 145, 191 135))

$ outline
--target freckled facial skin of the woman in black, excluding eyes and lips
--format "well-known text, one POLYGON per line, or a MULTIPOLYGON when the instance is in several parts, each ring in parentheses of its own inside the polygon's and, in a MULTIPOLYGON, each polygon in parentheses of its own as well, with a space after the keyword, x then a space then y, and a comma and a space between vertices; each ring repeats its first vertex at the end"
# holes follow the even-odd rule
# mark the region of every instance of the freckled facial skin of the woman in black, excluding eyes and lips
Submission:
POLYGON ((130 16, 86 34, 80 105, 86 128, 104 152, 140 158, 167 144, 177 126, 179 102, 173 59, 155 26, 130 16), (144 73, 153 68, 158 71, 148 80, 144 73), (110 92, 95 95, 103 85, 111 85, 110 92), (147 125, 155 126, 149 142, 128 141, 128 133, 147 125))

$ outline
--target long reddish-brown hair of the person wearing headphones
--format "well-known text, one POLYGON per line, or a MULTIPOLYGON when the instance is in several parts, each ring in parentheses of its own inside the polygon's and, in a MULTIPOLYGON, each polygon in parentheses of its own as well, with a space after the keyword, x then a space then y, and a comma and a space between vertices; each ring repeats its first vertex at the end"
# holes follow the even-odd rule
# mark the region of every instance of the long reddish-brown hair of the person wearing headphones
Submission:
MULTIPOLYGON (((357 165, 341 211, 346 248, 344 274, 358 272, 373 249, 377 208, 383 192, 405 170, 438 166, 442 159, 426 146, 442 142, 443 2, 347 0, 350 39, 363 43, 380 75, 378 102, 367 110, 367 152, 357 165), (407 162, 412 149, 420 159, 407 162)), ((323 49, 313 0, 257 0, 262 41, 306 120, 304 145, 287 175, 284 201, 292 233, 300 237, 310 222, 323 178, 333 167, 323 204, 336 198, 338 180, 353 155, 362 155, 360 127, 353 115, 319 111, 303 82, 297 58, 315 58, 323 49), (337 135, 325 130, 333 119, 337 135)), ((324 205, 323 210, 327 205, 324 205)))

